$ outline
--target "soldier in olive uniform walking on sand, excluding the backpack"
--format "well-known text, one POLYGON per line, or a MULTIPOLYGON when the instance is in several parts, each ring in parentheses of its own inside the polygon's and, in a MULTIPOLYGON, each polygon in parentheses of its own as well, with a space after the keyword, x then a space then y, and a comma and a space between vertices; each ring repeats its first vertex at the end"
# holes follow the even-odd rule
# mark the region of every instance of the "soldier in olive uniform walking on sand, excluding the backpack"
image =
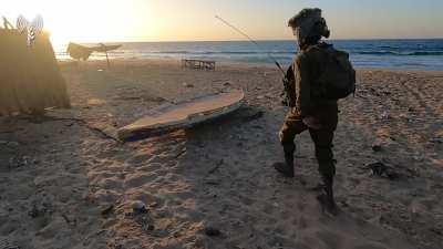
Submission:
POLYGON ((324 70, 324 52, 331 45, 321 41, 329 38, 326 20, 320 9, 303 9, 289 20, 297 37, 299 53, 288 71, 292 91, 287 93, 292 104, 279 133, 286 163, 276 163, 274 167, 286 177, 293 177, 295 138, 305 131, 315 143, 318 170, 322 177, 323 193, 318 196, 320 204, 331 214, 337 214, 333 199, 333 176, 336 162, 332 154, 332 138, 338 123, 337 100, 323 98, 318 90, 318 77, 324 70))

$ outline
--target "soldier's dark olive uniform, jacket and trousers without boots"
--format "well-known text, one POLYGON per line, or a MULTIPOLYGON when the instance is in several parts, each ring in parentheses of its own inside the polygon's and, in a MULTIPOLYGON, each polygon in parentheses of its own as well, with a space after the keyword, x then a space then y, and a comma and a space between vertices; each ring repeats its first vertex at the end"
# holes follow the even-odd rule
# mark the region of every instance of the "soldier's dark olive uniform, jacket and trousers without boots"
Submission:
POLYGON ((338 123, 338 104, 334 100, 322 100, 316 94, 317 77, 322 71, 321 62, 326 56, 323 46, 326 44, 310 45, 296 56, 292 64, 295 91, 289 93, 295 100, 295 106, 287 113, 279 135, 285 155, 293 157, 296 135, 308 129, 315 143, 320 174, 333 177, 336 167, 332 139, 338 123), (319 129, 309 128, 302 122, 302 118, 307 116, 315 117, 321 127, 319 129))

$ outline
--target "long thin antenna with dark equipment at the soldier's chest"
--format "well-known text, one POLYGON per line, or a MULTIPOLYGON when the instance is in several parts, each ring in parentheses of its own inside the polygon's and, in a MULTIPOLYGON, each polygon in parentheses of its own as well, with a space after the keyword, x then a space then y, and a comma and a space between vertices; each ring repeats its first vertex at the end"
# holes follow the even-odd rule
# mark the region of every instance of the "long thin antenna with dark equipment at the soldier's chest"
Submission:
POLYGON ((243 37, 245 37, 246 39, 248 39, 248 41, 250 41, 253 44, 255 44, 258 49, 260 49, 260 50, 266 52, 267 56, 271 61, 274 61, 274 63, 277 65, 278 70, 281 72, 281 74, 284 76, 282 77, 282 82, 284 82, 285 91, 280 94, 280 96, 282 97, 281 104, 285 105, 285 106, 293 106, 293 101, 291 100, 291 97, 289 95, 289 92, 291 91, 290 82, 291 82, 291 80, 293 77, 292 66, 289 66, 288 71, 285 72, 285 70, 282 69, 280 63, 268 51, 266 51, 257 41, 253 40, 248 34, 246 34, 245 32, 243 32, 241 30, 239 30, 235 25, 230 24, 225 19, 223 19, 223 18, 220 18, 218 15, 215 15, 215 18, 218 19, 219 21, 222 21, 223 23, 225 23, 227 27, 229 27, 233 30, 235 30, 237 33, 239 33, 243 37), (289 77, 290 75, 292 75, 292 77, 289 77))

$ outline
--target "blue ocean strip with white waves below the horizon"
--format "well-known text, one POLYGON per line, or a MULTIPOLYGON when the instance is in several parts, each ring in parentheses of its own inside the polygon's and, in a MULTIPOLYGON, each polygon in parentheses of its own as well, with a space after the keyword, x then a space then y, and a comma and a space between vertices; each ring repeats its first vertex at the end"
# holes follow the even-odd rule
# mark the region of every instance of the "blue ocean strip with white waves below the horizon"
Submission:
MULTIPOLYGON (((420 71, 443 71, 443 39, 421 40, 330 40, 337 49, 350 53, 356 68, 382 68, 420 71)), ((297 52, 295 41, 210 42, 122 42, 110 58, 119 59, 202 59, 218 62, 274 64, 268 54, 289 65, 297 52)), ((65 45, 55 46, 58 59, 64 60, 65 45)), ((104 59, 94 53, 91 59, 104 59)))

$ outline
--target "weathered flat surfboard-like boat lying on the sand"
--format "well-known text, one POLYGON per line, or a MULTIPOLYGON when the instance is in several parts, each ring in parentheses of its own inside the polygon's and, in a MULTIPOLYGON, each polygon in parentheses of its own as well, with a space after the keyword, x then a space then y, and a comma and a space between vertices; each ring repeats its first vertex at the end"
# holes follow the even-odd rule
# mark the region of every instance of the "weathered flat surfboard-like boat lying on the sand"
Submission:
POLYGON ((120 128, 117 136, 121 141, 138 139, 163 132, 190 127, 238 110, 244 98, 245 93, 236 90, 163 105, 154 108, 152 115, 120 128))

